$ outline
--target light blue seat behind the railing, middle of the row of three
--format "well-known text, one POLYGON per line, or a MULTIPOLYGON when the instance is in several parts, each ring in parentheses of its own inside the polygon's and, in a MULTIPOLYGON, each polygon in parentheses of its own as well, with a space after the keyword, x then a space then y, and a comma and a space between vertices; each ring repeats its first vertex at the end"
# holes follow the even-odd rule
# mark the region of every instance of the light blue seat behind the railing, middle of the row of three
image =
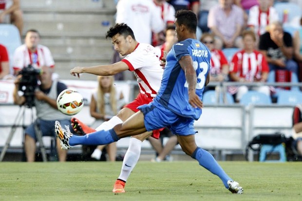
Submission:
POLYGON ((248 106, 249 104, 269 105, 272 100, 269 96, 258 91, 247 91, 241 98, 240 104, 248 106))

